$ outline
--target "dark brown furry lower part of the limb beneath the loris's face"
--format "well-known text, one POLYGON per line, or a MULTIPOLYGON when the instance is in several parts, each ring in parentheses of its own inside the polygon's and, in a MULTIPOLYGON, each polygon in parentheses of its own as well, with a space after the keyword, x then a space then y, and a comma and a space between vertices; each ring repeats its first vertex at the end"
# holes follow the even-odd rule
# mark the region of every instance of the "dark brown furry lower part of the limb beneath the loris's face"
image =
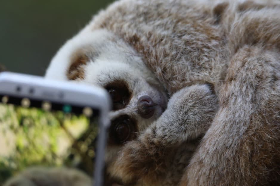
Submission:
POLYGON ((148 130, 137 140, 126 143, 111 170, 109 167, 109 172, 121 178, 125 185, 136 182, 153 185, 165 175, 163 162, 167 157, 166 152, 168 149, 155 143, 153 134, 148 130))

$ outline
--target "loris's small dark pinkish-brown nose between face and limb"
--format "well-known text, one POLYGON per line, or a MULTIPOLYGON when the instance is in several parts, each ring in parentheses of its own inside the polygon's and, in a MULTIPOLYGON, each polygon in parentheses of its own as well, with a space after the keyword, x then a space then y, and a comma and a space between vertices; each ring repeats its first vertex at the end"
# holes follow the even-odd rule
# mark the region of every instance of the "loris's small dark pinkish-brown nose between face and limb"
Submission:
POLYGON ((138 100, 138 113, 142 118, 148 119, 154 115, 155 104, 150 96, 141 96, 138 100))

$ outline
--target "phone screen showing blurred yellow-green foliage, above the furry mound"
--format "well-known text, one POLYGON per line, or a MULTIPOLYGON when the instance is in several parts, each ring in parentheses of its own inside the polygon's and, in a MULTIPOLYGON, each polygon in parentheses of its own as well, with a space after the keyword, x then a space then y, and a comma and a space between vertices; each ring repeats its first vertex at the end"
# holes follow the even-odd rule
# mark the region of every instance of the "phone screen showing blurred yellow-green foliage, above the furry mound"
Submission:
POLYGON ((93 175, 99 110, 0 95, 0 185, 30 166, 93 175))

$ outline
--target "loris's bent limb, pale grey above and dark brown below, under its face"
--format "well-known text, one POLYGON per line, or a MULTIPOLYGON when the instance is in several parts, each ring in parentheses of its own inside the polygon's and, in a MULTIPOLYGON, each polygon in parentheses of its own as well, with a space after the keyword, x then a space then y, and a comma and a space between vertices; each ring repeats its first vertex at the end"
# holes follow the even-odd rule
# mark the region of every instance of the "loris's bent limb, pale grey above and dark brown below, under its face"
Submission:
POLYGON ((113 165, 118 171, 113 171, 112 176, 127 183, 142 179, 147 185, 154 185, 153 181, 160 179, 161 171, 166 170, 170 148, 205 133, 218 107, 218 99, 208 85, 193 85, 178 91, 160 118, 137 140, 124 146, 113 165))

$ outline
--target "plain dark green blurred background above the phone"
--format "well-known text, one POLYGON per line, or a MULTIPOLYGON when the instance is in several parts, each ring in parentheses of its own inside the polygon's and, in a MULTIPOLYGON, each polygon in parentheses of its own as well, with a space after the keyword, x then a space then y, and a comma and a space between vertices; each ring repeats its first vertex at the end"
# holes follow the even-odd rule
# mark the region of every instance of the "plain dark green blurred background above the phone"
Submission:
POLYGON ((0 3, 0 64, 43 76, 56 51, 113 0, 9 0, 0 3))

